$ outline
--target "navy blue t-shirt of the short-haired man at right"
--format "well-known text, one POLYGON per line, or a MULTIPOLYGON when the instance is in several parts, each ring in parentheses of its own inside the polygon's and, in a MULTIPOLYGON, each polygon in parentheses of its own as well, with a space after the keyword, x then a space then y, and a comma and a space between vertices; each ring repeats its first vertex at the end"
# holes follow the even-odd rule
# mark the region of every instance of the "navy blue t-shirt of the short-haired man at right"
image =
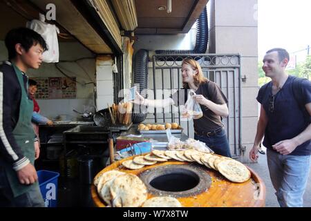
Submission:
MULTIPOLYGON (((299 102, 294 97, 294 77, 288 76, 285 84, 272 98, 272 81, 262 86, 256 98, 263 105, 268 118, 265 128, 263 145, 272 148, 272 145, 282 140, 290 140, 299 135, 310 124, 310 116, 305 116, 299 102), (273 103, 273 108, 272 108, 273 103)), ((311 102, 311 82, 303 81, 302 98, 303 104, 311 102)), ((290 155, 310 155, 311 140, 297 146, 290 155)))

